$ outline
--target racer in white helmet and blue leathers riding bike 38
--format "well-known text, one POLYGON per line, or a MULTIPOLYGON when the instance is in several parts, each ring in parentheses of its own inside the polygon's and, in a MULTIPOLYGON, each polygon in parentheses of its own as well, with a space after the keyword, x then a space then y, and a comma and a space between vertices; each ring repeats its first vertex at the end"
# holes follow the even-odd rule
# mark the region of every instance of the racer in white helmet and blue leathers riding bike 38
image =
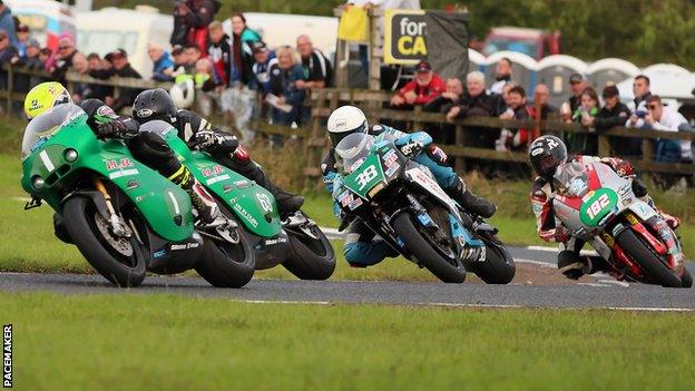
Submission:
MULTIPOLYGON (((340 180, 336 166, 335 146, 348 135, 365 133, 384 140, 393 141, 394 145, 414 162, 427 166, 433 174, 438 184, 454 201, 467 209, 482 216, 490 217, 497 209, 496 205, 471 193, 454 170, 446 165, 447 155, 432 144, 432 137, 424 131, 407 134, 385 125, 374 125, 371 128, 364 113, 354 106, 343 106, 335 109, 329 117, 329 137, 331 150, 321 164, 324 184, 329 193, 333 193, 334 184, 340 180)), ((360 219, 346 222, 342 219, 341 229, 350 225, 345 240, 344 255, 353 267, 366 267, 383 261, 385 257, 398 256, 383 240, 375 237, 374 232, 360 219)), ((483 247, 479 247, 484 251, 483 247)), ((480 254, 478 254, 480 255, 480 254)), ((477 256, 477 254, 471 254, 477 256)))

